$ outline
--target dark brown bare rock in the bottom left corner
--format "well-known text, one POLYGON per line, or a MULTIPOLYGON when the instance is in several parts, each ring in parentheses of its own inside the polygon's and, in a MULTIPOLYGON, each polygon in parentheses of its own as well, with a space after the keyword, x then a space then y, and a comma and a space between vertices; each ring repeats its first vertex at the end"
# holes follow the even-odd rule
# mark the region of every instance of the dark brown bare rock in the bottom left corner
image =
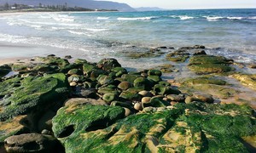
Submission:
POLYGON ((54 137, 38 133, 14 135, 4 140, 7 152, 52 152, 57 144, 54 137))

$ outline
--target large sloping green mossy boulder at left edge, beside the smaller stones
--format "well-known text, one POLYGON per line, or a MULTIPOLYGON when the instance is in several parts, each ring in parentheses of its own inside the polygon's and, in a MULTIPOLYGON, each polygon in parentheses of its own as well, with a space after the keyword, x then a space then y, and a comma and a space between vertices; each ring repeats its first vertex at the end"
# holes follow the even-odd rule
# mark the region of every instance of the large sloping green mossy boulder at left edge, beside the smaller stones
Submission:
POLYGON ((67 98, 67 79, 64 74, 44 77, 13 78, 0 82, 0 101, 3 108, 0 121, 26 114, 33 109, 54 105, 67 98), (9 85, 9 86, 8 86, 9 85), (9 87, 9 88, 6 88, 9 87))

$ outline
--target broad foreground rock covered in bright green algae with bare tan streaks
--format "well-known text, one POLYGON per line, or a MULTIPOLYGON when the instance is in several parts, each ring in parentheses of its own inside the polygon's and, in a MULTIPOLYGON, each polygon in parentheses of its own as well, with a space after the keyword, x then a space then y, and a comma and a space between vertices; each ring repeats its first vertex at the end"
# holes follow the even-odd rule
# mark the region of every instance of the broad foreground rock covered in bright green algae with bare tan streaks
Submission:
POLYGON ((245 105, 179 103, 124 119, 123 113, 114 106, 66 106, 53 131, 67 153, 248 152, 240 139, 256 134, 253 110, 245 105))

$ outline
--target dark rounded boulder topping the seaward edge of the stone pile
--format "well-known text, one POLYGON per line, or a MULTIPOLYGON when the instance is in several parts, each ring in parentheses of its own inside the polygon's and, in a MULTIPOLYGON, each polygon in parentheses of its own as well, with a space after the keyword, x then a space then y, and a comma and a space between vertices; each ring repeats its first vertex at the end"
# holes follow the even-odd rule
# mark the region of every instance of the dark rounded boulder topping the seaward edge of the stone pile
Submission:
POLYGON ((96 66, 104 71, 111 71, 113 67, 121 67, 117 59, 102 59, 96 66))

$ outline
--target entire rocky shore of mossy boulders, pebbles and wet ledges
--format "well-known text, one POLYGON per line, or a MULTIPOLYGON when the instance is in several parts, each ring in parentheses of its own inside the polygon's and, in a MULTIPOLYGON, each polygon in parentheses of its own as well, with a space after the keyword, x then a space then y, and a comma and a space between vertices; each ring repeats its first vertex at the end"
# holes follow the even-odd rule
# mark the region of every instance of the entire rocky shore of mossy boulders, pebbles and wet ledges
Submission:
POLYGON ((143 71, 54 54, 1 65, 0 152, 255 151, 256 100, 225 78, 255 91, 256 75, 204 48, 126 53, 177 62, 143 71), (165 79, 178 64, 196 77, 165 79))

